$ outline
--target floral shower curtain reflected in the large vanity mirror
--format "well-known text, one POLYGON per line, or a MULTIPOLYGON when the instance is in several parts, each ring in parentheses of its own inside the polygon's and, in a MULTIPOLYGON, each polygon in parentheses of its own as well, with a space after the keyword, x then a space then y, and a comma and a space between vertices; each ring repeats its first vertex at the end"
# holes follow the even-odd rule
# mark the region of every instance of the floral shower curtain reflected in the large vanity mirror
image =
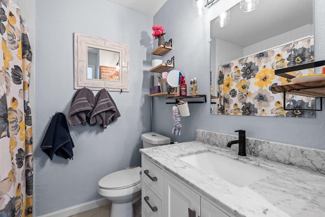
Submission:
MULTIPOLYGON (((273 85, 290 84, 274 71, 314 61, 314 39, 306 37, 219 66, 217 114, 277 117, 315 117, 315 100, 271 91, 273 85), (284 106, 288 110, 284 110, 284 106)), ((313 69, 291 73, 314 74, 313 69)))

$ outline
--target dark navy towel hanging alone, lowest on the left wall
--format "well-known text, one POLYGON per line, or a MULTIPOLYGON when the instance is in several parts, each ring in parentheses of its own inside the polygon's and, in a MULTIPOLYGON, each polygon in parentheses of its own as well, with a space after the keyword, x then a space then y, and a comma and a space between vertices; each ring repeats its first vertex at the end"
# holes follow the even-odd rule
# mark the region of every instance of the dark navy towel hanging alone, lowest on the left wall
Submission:
POLYGON ((70 136, 66 115, 58 112, 52 117, 41 148, 52 161, 54 154, 64 159, 73 159, 73 147, 75 145, 70 136))

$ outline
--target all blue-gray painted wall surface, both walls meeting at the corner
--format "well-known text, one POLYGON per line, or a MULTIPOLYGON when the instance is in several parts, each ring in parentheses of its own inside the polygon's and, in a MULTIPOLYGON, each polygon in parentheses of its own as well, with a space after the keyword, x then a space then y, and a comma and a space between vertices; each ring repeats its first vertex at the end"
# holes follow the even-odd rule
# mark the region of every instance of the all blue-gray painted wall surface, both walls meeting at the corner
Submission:
MULTIPOLYGON (((149 92, 152 50, 151 26, 164 25, 166 40, 173 38, 175 69, 197 77, 199 94, 209 99, 210 20, 238 0, 220 0, 204 18, 192 16, 192 2, 169 0, 153 18, 106 0, 36 1, 35 23, 35 216, 100 198, 98 180, 113 171, 140 164, 140 136, 149 131, 149 92), (130 92, 110 92, 121 117, 106 130, 99 126, 70 127, 76 147, 74 160, 54 157, 50 162, 40 149, 51 116, 68 114, 75 93, 73 33, 81 33, 130 45, 130 92)), ((325 6, 315 0, 316 60, 325 59, 325 6)), ((153 41, 153 47, 157 40, 153 41)), ((96 94, 96 91, 94 91, 96 94)), ((190 104, 191 115, 182 117, 181 136, 172 135, 172 105, 154 98, 153 131, 173 141, 190 141, 195 130, 235 134, 245 129, 247 137, 325 149, 325 113, 316 118, 281 118, 210 115, 210 104, 190 104)))

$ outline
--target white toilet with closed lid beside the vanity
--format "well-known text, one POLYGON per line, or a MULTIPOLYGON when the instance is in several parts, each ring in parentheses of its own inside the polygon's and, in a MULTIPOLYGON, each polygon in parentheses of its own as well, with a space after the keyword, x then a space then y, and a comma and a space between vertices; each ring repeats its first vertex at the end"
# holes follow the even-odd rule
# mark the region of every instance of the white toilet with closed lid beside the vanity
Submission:
MULTIPOLYGON (((167 145, 171 139, 153 132, 141 135, 143 148, 167 145)), ((110 217, 134 217, 133 204, 141 199, 141 167, 119 170, 98 182, 98 193, 112 201, 110 217)))

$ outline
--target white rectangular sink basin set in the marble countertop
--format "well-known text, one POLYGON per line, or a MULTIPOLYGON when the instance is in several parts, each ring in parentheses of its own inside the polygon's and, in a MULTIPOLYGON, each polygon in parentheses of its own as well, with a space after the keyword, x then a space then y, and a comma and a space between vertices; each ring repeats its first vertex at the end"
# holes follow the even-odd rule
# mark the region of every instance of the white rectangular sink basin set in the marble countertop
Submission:
POLYGON ((202 171, 213 173, 237 187, 245 187, 276 172, 275 169, 244 159, 238 161, 233 156, 210 151, 179 157, 179 159, 202 171))

